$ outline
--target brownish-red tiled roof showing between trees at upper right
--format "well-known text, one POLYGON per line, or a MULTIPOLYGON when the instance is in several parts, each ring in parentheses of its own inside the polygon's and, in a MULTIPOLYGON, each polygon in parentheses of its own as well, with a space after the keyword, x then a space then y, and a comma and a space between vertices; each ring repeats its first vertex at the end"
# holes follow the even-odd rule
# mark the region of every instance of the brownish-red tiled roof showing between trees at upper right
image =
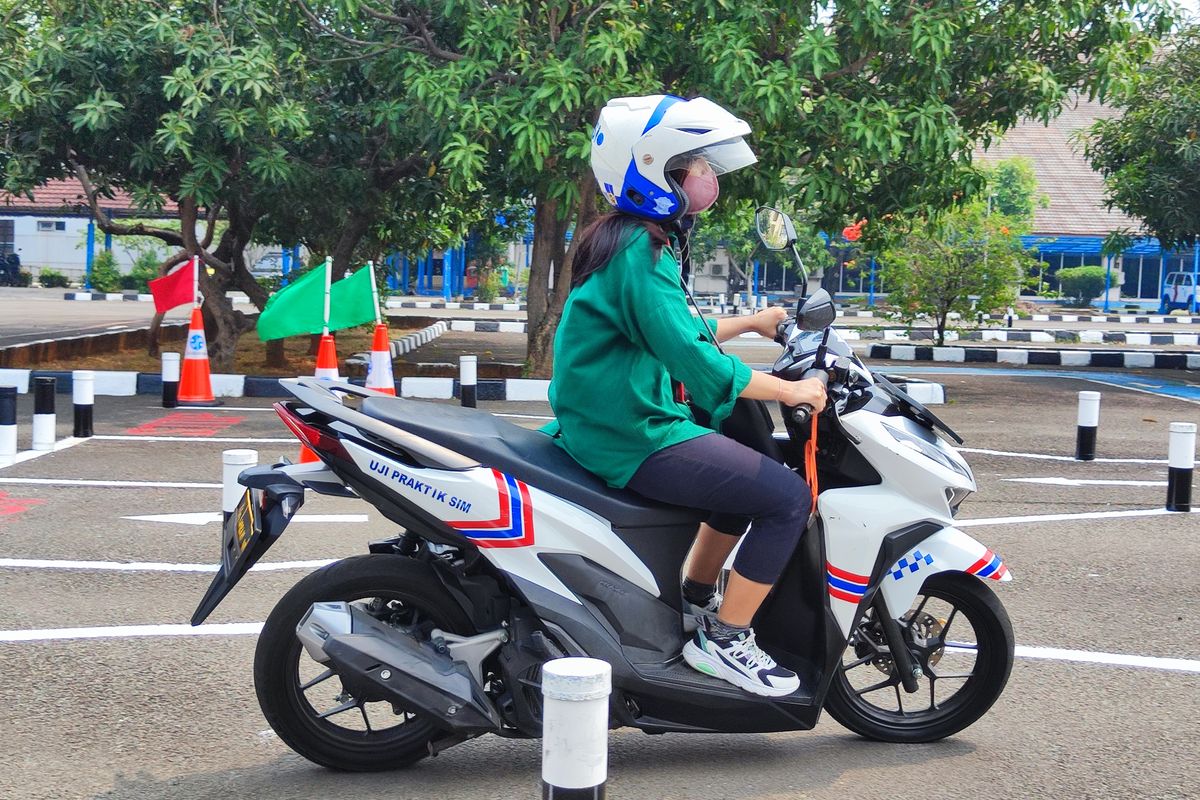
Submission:
POLYGON ((1022 156, 1033 163, 1038 193, 1050 200, 1046 207, 1033 211, 1036 234, 1105 236, 1121 228, 1138 231, 1141 225, 1136 219, 1104 207, 1104 180, 1092 170, 1072 138, 1075 131, 1096 120, 1117 114, 1115 108, 1080 98, 1048 126, 1021 122, 986 152, 977 152, 976 160, 991 163, 1022 156))

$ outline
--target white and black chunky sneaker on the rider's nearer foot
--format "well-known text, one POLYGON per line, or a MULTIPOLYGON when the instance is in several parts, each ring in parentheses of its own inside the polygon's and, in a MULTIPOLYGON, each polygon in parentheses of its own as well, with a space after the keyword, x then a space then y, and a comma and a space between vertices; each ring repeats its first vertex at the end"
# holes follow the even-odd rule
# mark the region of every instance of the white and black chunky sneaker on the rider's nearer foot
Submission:
POLYGON ((800 687, 794 672, 780 667, 755 644, 752 628, 731 637, 710 631, 712 622, 702 618, 691 640, 683 645, 683 660, 696 672, 763 697, 782 697, 800 687))

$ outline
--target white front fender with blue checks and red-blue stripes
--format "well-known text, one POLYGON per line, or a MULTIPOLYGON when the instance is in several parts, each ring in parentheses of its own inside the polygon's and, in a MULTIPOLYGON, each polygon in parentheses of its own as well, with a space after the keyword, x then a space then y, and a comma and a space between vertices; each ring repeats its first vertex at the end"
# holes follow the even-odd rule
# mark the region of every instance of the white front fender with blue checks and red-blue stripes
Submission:
POLYGON ((880 576, 888 609, 908 612, 925 581, 938 572, 966 572, 989 581, 1012 581, 1004 561, 958 528, 943 528, 902 555, 880 576))

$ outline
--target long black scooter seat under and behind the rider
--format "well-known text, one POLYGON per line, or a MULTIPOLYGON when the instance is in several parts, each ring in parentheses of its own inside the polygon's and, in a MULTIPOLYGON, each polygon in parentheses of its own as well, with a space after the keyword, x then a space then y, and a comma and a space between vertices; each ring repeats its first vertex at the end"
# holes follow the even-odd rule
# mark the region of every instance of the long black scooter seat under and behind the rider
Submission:
POLYGON ((492 467, 604 517, 614 528, 696 524, 707 513, 614 489, 580 467, 540 431, 457 405, 401 397, 367 397, 362 413, 492 467))

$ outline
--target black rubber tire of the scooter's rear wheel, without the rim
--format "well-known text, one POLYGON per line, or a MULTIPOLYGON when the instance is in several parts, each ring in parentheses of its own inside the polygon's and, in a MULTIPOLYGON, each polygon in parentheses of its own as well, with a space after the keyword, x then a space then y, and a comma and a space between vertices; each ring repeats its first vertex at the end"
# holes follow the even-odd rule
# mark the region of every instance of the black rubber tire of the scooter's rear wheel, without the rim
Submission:
MULTIPOLYGON (((397 600, 437 627, 475 633, 467 614, 432 567, 403 555, 356 555, 325 566, 294 585, 271 610, 254 651, 254 691, 263 716, 292 750, 334 770, 366 772, 413 764, 430 753, 442 732, 415 716, 382 732, 347 732, 317 716, 298 679, 301 652, 295 628, 314 602, 367 597, 397 600)), ((365 716, 365 714, 364 714, 365 716)))

